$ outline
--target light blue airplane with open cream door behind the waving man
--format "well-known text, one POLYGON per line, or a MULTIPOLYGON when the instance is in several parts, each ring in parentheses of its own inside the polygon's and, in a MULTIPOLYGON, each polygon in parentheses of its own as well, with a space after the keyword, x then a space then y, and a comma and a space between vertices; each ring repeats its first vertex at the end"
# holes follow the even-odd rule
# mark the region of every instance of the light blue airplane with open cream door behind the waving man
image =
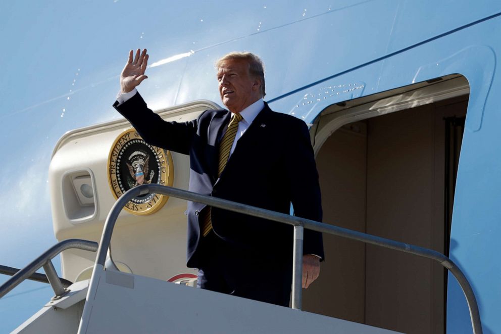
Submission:
MULTIPOLYGON (((2 57, 19 66, 7 67, 7 77, 14 79, 1 86, 6 93, 4 152, 9 152, 4 203, 11 205, 5 209, 4 230, 9 232, 1 246, 8 256, 0 264, 23 268, 70 238, 101 241, 105 220, 123 194, 110 172, 113 150, 120 149, 127 135, 135 136, 111 107, 130 48, 147 47, 151 55, 149 78, 139 87, 145 101, 164 119, 176 121, 219 108, 214 63, 227 52, 247 50, 266 65, 265 101, 310 127, 323 222, 449 257, 464 272, 478 302, 481 330, 476 332, 501 331, 501 270, 495 260, 501 218, 501 154, 495 144, 500 117, 498 2, 138 6, 115 0, 34 4, 25 25, 19 22, 25 10, 21 5, 7 9, 2 11, 8 18, 4 24, 13 33, 3 37, 10 52, 2 57), (61 21, 44 21, 45 14, 61 21), (14 33, 19 27, 22 33, 14 33), (16 40, 24 41, 17 49, 16 40), (32 47, 42 52, 30 52, 32 47), (19 166, 24 167, 21 173, 19 166)), ((163 184, 187 189, 188 158, 157 153, 166 158, 163 184)), ((129 162, 134 173, 137 161, 129 162)), ((140 168, 145 175, 152 170, 144 170, 144 160, 140 168)), ((158 329, 182 332, 188 328, 183 324, 196 322, 198 316, 186 301, 201 293, 192 289, 196 271, 184 262, 186 202, 172 196, 155 203, 155 196, 146 199, 141 203, 144 213, 130 205, 119 216, 111 243, 118 271, 109 279, 127 285, 134 277, 139 286, 139 277, 147 277, 145 282, 164 284, 177 301, 185 297, 185 303, 173 306, 185 315, 158 329)), ((472 332, 464 293, 439 263, 330 234, 324 234, 324 245, 326 261, 319 279, 303 292, 302 313, 228 296, 204 298, 221 298, 230 306, 241 303, 256 314, 267 310, 276 319, 291 321, 280 323, 283 330, 297 325, 294 316, 305 316, 344 332, 472 332)), ((80 324, 82 314, 90 317, 83 292, 96 289, 96 283, 88 285, 98 277, 92 276, 95 258, 95 252, 83 250, 61 255, 60 276, 79 284, 82 292, 79 300, 73 297, 72 306, 82 308, 72 323, 75 331, 99 331, 92 327, 96 323, 85 328, 80 324)), ((39 286, 21 285, 21 294, 13 290, 0 299, 3 331, 36 330, 41 318, 30 318, 33 313, 58 309, 51 305, 57 300, 48 301, 54 292, 47 285, 32 291, 39 286), (28 304, 29 310, 19 310, 28 304)), ((116 313, 110 310, 110 315, 116 313)), ((112 323, 125 326, 127 321, 112 323)), ((228 323, 214 320, 212 325, 217 329, 228 323)), ((264 323, 274 325, 271 320, 264 323)), ((256 330, 253 325, 258 324, 246 330, 256 330)), ((262 332, 271 332, 274 327, 264 328, 262 332)))

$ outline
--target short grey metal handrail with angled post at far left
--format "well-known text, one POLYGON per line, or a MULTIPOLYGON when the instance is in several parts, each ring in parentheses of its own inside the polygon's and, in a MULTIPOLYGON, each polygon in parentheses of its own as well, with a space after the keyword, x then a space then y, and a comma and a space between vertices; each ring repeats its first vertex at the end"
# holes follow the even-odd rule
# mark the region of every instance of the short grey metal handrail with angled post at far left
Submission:
POLYGON ((2 286, 0 286, 0 298, 7 295, 12 289, 16 288, 23 280, 33 276, 33 274, 35 274, 35 271, 37 271, 41 267, 43 267, 43 270, 45 270, 46 278, 48 282, 51 283, 52 289, 56 294, 54 299, 61 298, 64 294, 67 293, 67 290, 63 286, 63 283, 61 282, 51 260, 62 251, 70 248, 95 252, 97 250, 97 243, 81 239, 68 239, 57 243, 53 247, 46 250, 35 260, 33 260, 26 267, 16 272, 11 278, 9 278, 4 284, 2 284, 2 286))

